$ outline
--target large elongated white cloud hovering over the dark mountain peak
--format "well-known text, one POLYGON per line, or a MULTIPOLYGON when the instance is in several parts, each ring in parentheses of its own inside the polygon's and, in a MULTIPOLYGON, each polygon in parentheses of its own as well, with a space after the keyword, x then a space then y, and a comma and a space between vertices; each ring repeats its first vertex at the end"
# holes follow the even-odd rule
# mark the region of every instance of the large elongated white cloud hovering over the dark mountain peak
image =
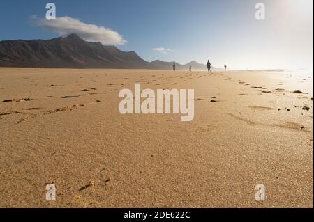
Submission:
POLYGON ((75 33, 80 38, 89 42, 101 42, 103 45, 124 45, 126 40, 111 29, 94 24, 86 24, 79 19, 72 17, 57 17, 55 20, 47 20, 33 16, 33 21, 37 26, 44 27, 58 33, 59 35, 70 35, 75 33))

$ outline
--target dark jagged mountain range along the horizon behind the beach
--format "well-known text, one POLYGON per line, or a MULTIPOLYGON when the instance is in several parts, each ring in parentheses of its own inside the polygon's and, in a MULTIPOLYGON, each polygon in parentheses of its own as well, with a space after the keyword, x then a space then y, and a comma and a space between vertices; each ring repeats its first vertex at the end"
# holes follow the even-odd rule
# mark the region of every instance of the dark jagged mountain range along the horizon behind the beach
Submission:
MULTIPOLYGON (((84 41, 76 34, 52 40, 6 40, 0 42, 0 67, 24 68, 117 68, 170 70, 175 62, 144 61, 135 51, 121 51, 100 42, 84 41)), ((206 70, 192 61, 176 63, 178 70, 206 70)))

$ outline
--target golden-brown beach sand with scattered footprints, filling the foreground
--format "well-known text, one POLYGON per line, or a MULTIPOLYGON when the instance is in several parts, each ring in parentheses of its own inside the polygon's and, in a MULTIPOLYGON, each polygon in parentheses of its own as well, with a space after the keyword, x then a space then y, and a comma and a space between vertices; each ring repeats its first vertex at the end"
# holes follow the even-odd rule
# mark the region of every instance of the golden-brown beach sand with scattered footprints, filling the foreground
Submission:
POLYGON ((313 74, 0 68, 0 126, 0 207, 313 207, 313 74), (194 120, 121 115, 135 83, 194 120))

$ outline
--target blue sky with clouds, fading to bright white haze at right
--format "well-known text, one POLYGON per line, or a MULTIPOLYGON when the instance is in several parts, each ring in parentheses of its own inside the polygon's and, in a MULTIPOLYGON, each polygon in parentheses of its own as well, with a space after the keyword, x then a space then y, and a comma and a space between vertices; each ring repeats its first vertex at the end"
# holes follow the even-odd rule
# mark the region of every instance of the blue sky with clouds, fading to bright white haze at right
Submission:
POLYGON ((313 0, 7 0, 0 28, 0 40, 75 31, 147 61, 313 70, 313 0), (44 19, 48 2, 57 6, 54 23, 44 19), (259 2, 265 20, 255 19, 259 2))

